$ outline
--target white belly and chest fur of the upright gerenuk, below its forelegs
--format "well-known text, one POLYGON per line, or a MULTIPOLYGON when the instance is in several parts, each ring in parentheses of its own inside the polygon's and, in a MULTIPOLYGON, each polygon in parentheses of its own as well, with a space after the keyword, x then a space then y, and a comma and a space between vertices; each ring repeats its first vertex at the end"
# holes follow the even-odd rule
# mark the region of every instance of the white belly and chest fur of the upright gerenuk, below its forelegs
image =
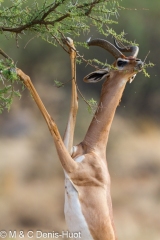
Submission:
MULTIPOLYGON (((83 160, 84 156, 81 156, 75 161, 81 162, 83 160)), ((66 173, 64 213, 69 232, 80 234, 80 238, 76 237, 75 239, 93 240, 87 222, 82 213, 78 192, 66 173)))

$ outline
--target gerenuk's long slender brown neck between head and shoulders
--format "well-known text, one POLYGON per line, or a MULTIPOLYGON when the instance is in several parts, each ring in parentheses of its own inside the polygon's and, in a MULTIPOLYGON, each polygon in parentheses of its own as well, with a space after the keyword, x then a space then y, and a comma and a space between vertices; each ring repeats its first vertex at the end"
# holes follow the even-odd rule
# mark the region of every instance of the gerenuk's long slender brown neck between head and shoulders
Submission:
POLYGON ((83 140, 83 144, 97 149, 101 153, 106 152, 110 127, 127 80, 124 73, 113 71, 104 82, 97 111, 83 140))

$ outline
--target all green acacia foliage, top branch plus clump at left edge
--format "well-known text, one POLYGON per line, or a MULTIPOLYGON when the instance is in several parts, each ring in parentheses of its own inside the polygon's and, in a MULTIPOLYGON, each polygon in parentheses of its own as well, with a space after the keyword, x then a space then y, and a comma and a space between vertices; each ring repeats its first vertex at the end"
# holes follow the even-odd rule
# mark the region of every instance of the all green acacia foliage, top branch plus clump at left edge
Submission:
MULTIPOLYGON (((121 42, 124 32, 117 34, 112 25, 118 23, 119 11, 124 9, 118 0, 0 0, 0 34, 15 38, 18 46, 19 36, 31 32, 34 37, 42 38, 48 44, 65 48, 65 36, 79 36, 95 28, 101 35, 112 35, 121 42)), ((133 45, 134 43, 132 43, 133 45)), ((84 42, 75 45, 86 47, 84 42)), ((14 61, 0 49, 0 113, 10 109, 14 96, 20 96, 15 82, 20 82, 16 74, 14 61)), ((9 53, 8 53, 9 54, 9 53)), ((86 60, 77 53, 81 61, 94 65, 101 64, 97 59, 86 60)), ((78 61, 78 60, 77 60, 78 61)))

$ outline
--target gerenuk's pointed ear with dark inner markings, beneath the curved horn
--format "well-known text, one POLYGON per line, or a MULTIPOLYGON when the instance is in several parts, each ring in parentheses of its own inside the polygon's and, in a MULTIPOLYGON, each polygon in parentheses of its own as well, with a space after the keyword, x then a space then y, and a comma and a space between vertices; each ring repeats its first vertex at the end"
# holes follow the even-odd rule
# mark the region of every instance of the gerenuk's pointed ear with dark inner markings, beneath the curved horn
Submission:
POLYGON ((95 72, 89 73, 86 77, 83 78, 83 81, 87 83, 96 83, 103 80, 107 76, 109 76, 108 68, 104 68, 104 69, 100 69, 95 72))

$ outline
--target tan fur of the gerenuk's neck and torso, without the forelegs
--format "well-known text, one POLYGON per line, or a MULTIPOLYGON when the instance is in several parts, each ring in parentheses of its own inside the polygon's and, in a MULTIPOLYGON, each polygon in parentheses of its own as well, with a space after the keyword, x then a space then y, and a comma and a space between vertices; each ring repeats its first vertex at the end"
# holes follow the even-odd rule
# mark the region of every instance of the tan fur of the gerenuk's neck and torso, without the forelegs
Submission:
MULTIPOLYGON (((135 60, 134 62, 135 63, 135 60)), ((110 176, 106 145, 115 110, 125 85, 135 73, 134 64, 127 71, 113 71, 103 84, 100 102, 84 141, 72 157, 84 156, 76 171, 69 174, 79 194, 83 215, 95 240, 115 240, 110 176)))

